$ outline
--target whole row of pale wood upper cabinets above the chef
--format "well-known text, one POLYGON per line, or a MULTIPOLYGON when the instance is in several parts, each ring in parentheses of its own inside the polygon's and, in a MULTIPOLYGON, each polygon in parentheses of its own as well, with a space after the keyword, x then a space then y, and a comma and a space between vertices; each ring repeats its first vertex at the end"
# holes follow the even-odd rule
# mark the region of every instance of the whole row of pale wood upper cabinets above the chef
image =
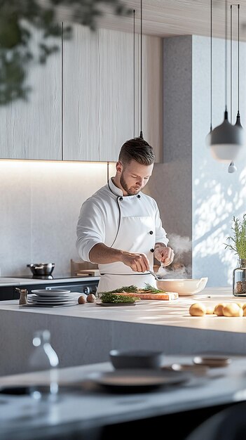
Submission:
MULTIPOLYGON (((29 63, 27 99, 1 105, 0 158, 115 162, 121 145, 142 131, 163 150, 163 48, 159 37, 72 25, 71 38, 46 63, 29 63), (134 56, 135 53, 135 56, 134 56)), ((33 33, 32 53, 40 35, 33 33)), ((37 57, 36 57, 37 58, 37 57)), ((35 58, 35 59, 36 59, 35 58)))

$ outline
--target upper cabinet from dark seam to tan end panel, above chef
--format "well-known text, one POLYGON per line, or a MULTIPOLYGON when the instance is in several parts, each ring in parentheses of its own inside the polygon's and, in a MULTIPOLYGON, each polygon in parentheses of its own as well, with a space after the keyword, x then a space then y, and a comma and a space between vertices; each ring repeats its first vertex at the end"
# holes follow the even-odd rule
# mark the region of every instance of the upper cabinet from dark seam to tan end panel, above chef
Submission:
MULTIPOLYGON (((73 25, 64 40, 64 160, 115 162, 140 131, 140 37, 73 25), (135 77, 134 77, 135 75, 135 77)), ((142 130, 162 160, 162 40, 142 39, 142 130)))

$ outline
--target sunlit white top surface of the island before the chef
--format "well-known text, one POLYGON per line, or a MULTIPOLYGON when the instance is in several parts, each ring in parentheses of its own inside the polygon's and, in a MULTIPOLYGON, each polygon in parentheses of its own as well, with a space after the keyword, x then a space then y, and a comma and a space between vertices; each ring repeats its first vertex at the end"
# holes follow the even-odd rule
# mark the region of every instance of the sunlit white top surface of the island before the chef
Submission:
MULTIPOLYGON (((72 292, 75 298, 81 293, 72 292)), ((172 301, 142 300, 135 306, 100 306, 95 303, 74 306, 39 307, 20 306, 18 300, 0 302, 1 311, 20 313, 43 313, 45 315, 69 316, 71 318, 93 318, 96 320, 121 321, 149 325, 168 325, 183 328, 220 330, 224 332, 246 332, 246 316, 228 318, 226 316, 191 316, 189 307, 194 302, 215 306, 220 302, 246 303, 246 297, 238 298, 231 294, 231 287, 207 287, 203 292, 189 297, 179 297, 172 301)))

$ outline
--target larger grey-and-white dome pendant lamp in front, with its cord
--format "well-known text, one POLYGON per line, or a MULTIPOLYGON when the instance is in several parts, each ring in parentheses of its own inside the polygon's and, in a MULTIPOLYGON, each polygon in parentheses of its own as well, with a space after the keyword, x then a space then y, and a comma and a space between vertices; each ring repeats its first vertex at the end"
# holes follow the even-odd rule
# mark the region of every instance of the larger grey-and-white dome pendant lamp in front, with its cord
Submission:
MULTIPOLYGON (((212 0, 211 0, 211 23, 212 23, 212 0)), ((212 24, 211 24, 212 40, 212 24)), ((212 70, 212 63, 211 63, 212 70)), ((212 90, 212 86, 211 86, 212 90)), ((211 92, 212 101, 212 92, 211 92)), ((212 157, 219 162, 230 163, 238 155, 243 145, 243 133, 238 124, 231 124, 228 121, 227 112, 227 0, 225 0, 225 111, 224 121, 212 129, 212 118, 210 124, 210 134, 207 136, 207 142, 211 149, 212 157)))

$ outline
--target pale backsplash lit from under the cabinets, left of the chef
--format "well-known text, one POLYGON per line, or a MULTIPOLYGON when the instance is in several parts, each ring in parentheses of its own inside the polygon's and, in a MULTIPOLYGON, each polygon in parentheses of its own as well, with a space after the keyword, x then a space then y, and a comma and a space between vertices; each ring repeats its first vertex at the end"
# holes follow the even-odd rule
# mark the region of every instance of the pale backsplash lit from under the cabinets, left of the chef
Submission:
POLYGON ((81 204, 107 183, 107 163, 0 161, 1 276, 29 274, 29 263, 70 273, 77 259, 81 204))

